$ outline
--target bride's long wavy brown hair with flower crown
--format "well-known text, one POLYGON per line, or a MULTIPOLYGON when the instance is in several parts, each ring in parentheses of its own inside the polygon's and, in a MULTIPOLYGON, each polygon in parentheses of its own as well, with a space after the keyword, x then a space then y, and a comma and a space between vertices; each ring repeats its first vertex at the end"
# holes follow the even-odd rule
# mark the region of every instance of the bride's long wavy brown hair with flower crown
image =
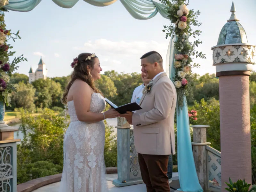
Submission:
POLYGON ((87 68, 87 66, 89 66, 93 69, 95 58, 98 58, 96 55, 94 55, 94 57, 91 57, 92 55, 92 53, 81 53, 72 62, 71 67, 74 68, 74 71, 71 74, 71 80, 68 83, 68 86, 66 87, 65 92, 63 94, 62 102, 64 104, 67 103, 68 91, 76 79, 80 79, 87 83, 94 92, 101 93, 100 90, 95 87, 92 80, 92 76, 90 74, 90 70, 87 68), (90 57, 90 59, 88 57, 90 57))

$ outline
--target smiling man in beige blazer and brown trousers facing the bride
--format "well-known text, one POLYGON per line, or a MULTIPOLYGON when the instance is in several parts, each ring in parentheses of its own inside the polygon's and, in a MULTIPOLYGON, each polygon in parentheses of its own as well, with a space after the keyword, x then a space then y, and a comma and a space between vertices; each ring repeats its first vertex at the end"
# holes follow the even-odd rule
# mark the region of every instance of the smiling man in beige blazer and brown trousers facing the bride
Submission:
POLYGON ((144 88, 141 110, 124 114, 133 124, 142 180, 147 192, 170 192, 167 165, 175 154, 176 89, 163 69, 163 59, 151 51, 141 58, 141 71, 152 81, 144 88))

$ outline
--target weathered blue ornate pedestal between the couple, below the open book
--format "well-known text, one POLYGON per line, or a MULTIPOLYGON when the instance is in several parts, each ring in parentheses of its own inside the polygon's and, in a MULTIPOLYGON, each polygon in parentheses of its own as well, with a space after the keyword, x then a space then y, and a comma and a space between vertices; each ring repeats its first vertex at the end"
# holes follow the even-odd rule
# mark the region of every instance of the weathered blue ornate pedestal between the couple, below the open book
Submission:
POLYGON ((117 118, 117 187, 143 183, 138 153, 134 148, 133 129, 124 117, 117 118))

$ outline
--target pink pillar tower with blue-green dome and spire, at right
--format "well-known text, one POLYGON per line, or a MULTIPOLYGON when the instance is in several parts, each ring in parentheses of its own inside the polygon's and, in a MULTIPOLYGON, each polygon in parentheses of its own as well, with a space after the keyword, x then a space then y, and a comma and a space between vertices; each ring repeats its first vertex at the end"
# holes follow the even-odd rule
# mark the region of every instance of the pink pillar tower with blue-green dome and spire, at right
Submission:
POLYGON ((249 76, 255 46, 248 44, 244 28, 231 16, 212 47, 213 66, 220 81, 221 191, 230 177, 252 183, 249 76))

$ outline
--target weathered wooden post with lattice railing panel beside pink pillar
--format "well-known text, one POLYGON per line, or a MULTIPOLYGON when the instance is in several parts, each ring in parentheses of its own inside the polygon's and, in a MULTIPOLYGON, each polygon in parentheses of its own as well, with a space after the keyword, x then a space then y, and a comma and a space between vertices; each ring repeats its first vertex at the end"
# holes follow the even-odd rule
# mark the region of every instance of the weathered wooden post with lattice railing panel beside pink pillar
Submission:
POLYGON ((194 125, 193 128, 193 155, 196 172, 200 185, 205 192, 221 191, 221 153, 208 146, 206 141, 207 125, 194 125))

